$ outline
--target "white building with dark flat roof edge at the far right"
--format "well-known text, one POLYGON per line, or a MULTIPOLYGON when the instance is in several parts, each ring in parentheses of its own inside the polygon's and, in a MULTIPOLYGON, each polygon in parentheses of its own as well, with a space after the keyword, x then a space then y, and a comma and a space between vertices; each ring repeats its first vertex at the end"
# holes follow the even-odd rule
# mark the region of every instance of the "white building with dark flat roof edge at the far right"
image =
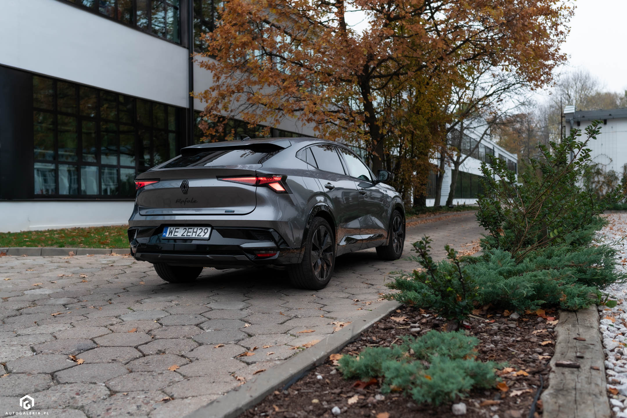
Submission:
MULTIPOLYGON (((623 167, 627 164, 627 108, 612 110, 577 110, 574 106, 564 108, 567 133, 571 129, 581 129, 582 138, 593 120, 600 120, 601 133, 596 140, 590 140, 587 148, 591 149, 592 160, 604 170, 614 170, 620 179, 623 167)), ((581 138, 580 138, 581 139, 581 138)))

